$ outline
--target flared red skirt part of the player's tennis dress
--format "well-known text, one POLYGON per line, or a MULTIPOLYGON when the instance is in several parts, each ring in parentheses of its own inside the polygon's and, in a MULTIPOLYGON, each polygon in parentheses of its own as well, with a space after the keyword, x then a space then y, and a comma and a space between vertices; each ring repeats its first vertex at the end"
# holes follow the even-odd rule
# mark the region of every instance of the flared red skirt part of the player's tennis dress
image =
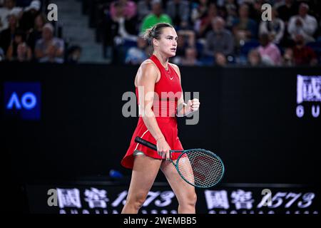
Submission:
MULTIPOLYGON (((161 129, 166 142, 170 146, 170 150, 184 150, 182 144, 180 143, 180 139, 178 138, 178 129, 177 129, 177 120, 175 117, 156 117, 156 121, 158 123, 158 127, 161 129)), ((153 157, 155 159, 165 159, 158 155, 156 150, 152 150, 144 145, 141 145, 135 142, 136 136, 147 140, 148 142, 152 142, 156 145, 156 140, 153 138, 153 135, 146 128, 145 123, 143 123, 143 118, 138 119, 138 124, 136 130, 133 133, 133 137, 131 138, 131 145, 126 152, 126 155, 121 160, 121 165, 128 169, 133 169, 133 152, 139 150, 143 152, 148 157, 153 157)), ((177 160, 180 153, 175 152, 172 154, 172 160, 177 160)))

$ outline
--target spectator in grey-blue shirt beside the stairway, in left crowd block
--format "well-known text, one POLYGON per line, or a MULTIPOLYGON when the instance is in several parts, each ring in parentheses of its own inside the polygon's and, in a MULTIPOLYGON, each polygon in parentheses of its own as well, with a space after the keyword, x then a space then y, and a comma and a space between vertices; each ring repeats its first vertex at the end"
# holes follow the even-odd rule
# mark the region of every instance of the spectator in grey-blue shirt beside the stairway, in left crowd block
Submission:
POLYGON ((54 37, 54 26, 50 23, 44 25, 42 38, 36 41, 36 59, 41 62, 63 63, 63 41, 54 37))

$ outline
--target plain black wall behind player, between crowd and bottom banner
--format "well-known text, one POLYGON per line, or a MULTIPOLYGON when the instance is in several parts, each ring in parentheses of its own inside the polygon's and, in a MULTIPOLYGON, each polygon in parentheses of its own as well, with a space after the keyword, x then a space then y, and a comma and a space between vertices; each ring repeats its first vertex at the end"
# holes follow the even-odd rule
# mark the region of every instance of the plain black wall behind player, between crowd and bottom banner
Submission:
MULTIPOLYGON (((111 169, 131 174, 120 161, 138 118, 123 117, 121 98, 135 91, 137 67, 2 63, 0 68, 4 180, 108 180, 111 169), (41 83, 41 120, 5 114, 4 82, 15 81, 41 83)), ((183 147, 216 152, 225 162, 225 183, 320 184, 321 117, 313 118, 310 110, 302 118, 295 114, 297 74, 320 70, 182 67, 183 90, 198 91, 201 103, 198 125, 179 119, 183 147)))

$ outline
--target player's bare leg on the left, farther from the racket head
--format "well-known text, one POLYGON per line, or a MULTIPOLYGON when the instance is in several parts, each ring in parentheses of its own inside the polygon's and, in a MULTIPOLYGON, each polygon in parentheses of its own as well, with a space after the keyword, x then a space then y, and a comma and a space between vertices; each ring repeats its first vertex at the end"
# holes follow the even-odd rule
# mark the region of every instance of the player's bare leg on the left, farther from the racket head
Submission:
POLYGON ((122 214, 137 214, 155 181, 162 160, 136 155, 126 204, 122 214))

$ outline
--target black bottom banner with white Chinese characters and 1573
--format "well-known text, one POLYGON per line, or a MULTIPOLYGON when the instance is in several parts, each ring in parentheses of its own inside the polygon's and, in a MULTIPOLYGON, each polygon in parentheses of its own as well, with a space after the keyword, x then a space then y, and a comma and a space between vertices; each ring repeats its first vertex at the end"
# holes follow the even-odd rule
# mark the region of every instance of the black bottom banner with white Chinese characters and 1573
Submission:
MULTIPOLYGON (((128 186, 27 185, 29 209, 35 214, 119 214, 128 186)), ((198 189, 198 214, 319 214, 320 192, 300 185, 230 184, 198 189)), ((178 202, 165 183, 156 183, 141 214, 177 214, 178 202)))

